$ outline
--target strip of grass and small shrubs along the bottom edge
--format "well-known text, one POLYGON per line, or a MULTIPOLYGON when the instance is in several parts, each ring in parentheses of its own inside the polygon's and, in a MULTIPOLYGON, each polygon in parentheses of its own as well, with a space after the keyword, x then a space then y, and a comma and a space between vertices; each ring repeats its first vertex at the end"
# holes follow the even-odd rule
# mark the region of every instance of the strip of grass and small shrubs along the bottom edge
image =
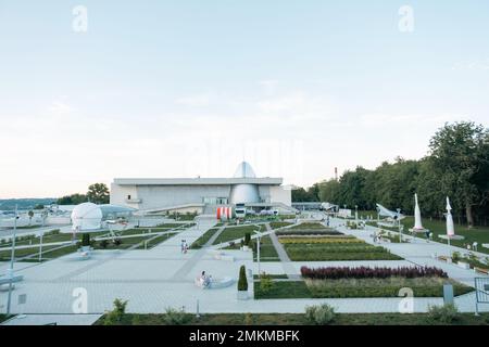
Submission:
MULTIPOLYGON (((461 313, 453 305, 431 306, 427 313, 337 313, 327 305, 304 313, 204 313, 166 308, 165 313, 126 313, 128 301, 114 300, 95 325, 487 325, 489 313, 461 313)), ((0 316, 1 319, 4 319, 0 316)))

